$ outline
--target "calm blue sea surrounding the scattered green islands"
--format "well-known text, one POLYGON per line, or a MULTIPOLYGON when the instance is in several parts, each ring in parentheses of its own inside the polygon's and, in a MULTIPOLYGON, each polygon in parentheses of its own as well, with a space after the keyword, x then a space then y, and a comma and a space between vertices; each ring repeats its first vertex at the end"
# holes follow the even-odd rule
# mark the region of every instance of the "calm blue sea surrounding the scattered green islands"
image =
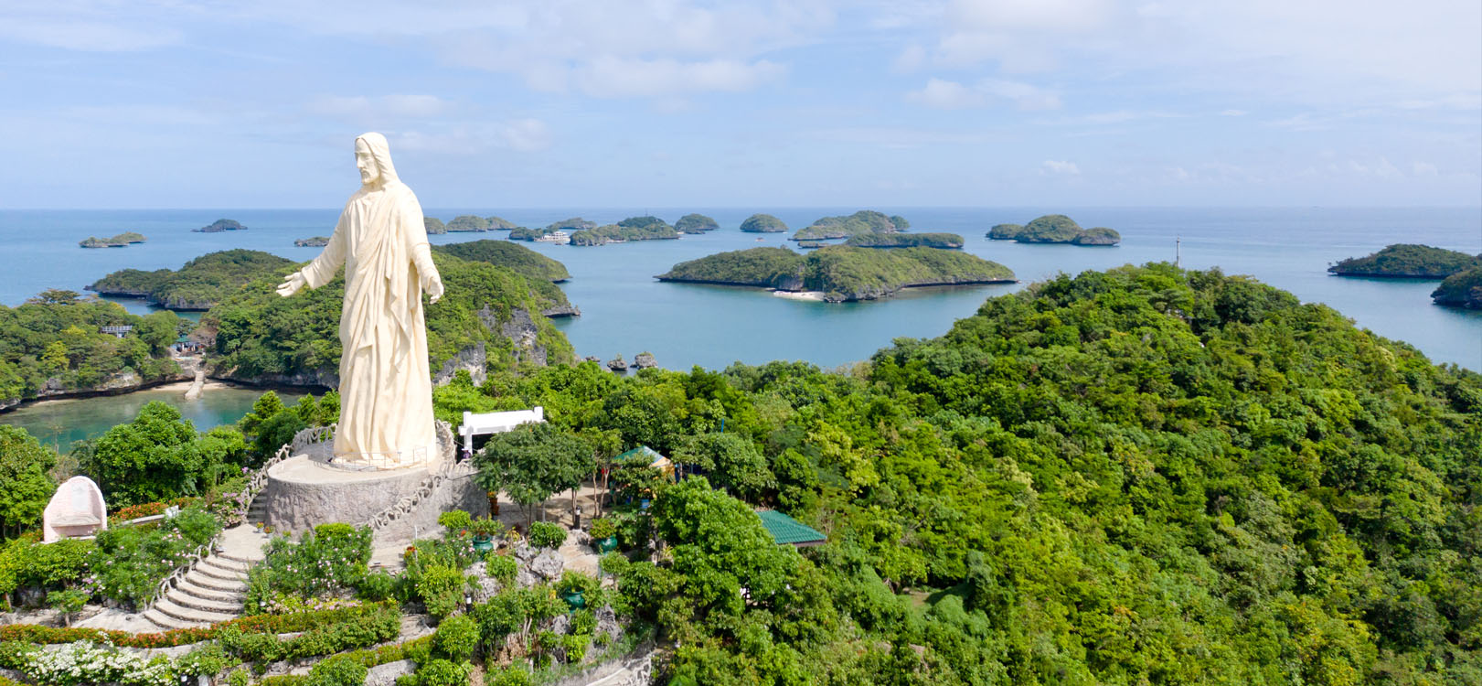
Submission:
MULTIPOLYGON (((714 216, 720 230, 682 240, 597 247, 525 243, 559 259, 572 279, 563 284, 582 316, 559 320, 581 356, 608 360, 651 351, 670 369, 700 364, 719 369, 732 362, 808 360, 831 367, 870 357, 894 338, 944 333, 971 316, 986 298, 1003 295, 1057 273, 1104 270, 1123 264, 1172 261, 1175 239, 1181 264, 1251 274, 1291 290, 1306 302, 1323 302, 1375 333, 1405 341, 1435 362, 1482 370, 1482 311, 1430 302, 1435 282, 1366 280, 1326 274, 1331 262, 1366 255, 1389 243, 1426 243, 1482 252, 1482 207, 873 207, 898 213, 911 231, 953 231, 965 250, 1002 262, 1020 284, 913 289, 876 302, 824 304, 778 298, 763 290, 659 283, 654 274, 674 262, 720 250, 791 244, 788 234, 742 234, 753 212, 777 215, 793 230, 825 215, 858 207, 556 207, 428 209, 430 216, 499 215, 520 225, 545 225, 569 216, 600 224, 625 216, 657 215, 670 222, 688 212, 714 216), (988 227, 1023 224, 1063 212, 1083 227, 1122 233, 1116 247, 1080 247, 990 242, 988 227), (760 240, 757 240, 760 239, 760 240)), ((283 210, 0 210, 0 304, 16 305, 47 287, 82 290, 104 274, 126 267, 178 268, 187 259, 228 247, 252 247, 307 261, 317 247, 293 240, 328 234, 338 209, 283 210), (191 233, 219 218, 237 219, 246 231, 191 233), (147 243, 116 249, 80 249, 87 236, 139 231, 147 243)), ((504 239, 504 233, 433 236, 434 243, 504 239)), ((133 311, 147 308, 120 301, 133 311)), ((233 418, 234 419, 234 418, 233 418)), ((0 421, 7 421, 0 416, 0 421)), ((231 421, 231 419, 225 419, 231 421)))

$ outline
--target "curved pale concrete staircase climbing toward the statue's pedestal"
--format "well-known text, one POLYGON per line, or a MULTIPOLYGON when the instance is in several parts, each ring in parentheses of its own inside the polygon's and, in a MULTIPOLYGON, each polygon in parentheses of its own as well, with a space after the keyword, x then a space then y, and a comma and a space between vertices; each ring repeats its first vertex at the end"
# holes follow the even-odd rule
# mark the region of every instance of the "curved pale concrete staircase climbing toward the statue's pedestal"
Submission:
POLYGON ((163 599, 144 612, 162 630, 206 627, 242 615, 247 567, 264 557, 268 536, 240 525, 222 532, 219 548, 200 560, 163 599))

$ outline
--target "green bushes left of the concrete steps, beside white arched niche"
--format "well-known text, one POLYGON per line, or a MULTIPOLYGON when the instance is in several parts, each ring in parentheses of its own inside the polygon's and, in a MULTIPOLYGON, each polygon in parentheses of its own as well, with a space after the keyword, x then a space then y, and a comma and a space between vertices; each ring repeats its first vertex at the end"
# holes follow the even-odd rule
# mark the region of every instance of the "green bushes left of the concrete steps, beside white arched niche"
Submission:
POLYGON ((144 606, 154 600, 160 581, 185 565, 196 548, 215 538, 221 526, 216 516, 196 505, 157 527, 99 530, 96 547, 87 553, 89 590, 119 603, 144 606))

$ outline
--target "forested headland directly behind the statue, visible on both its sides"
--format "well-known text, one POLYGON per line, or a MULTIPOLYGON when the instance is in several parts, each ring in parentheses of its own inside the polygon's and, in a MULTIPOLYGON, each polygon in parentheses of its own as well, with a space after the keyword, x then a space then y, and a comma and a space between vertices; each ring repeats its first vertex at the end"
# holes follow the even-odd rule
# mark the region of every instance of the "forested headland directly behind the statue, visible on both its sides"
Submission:
MULTIPOLYGON (((517 360, 569 362, 571 344, 541 316, 550 302, 539 284, 511 268, 459 259, 434 250, 448 295, 427 305, 427 345, 436 372, 453 356, 480 344, 491 367, 517 360), (532 339, 522 347, 517 339, 532 339)), ((202 317, 212 339, 213 375, 253 382, 330 385, 339 370, 339 313, 344 276, 293 298, 274 289, 292 267, 249 283, 202 317)), ((559 292, 559 289, 556 289, 559 292)), ((565 295, 562 296, 565 299, 565 295)))

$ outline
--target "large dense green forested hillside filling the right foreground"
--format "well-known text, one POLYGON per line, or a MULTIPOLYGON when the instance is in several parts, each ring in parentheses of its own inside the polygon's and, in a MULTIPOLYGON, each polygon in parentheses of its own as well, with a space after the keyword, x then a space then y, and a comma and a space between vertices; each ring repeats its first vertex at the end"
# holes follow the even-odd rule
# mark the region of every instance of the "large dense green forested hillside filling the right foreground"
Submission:
POLYGON ((828 535, 659 487, 671 550, 603 565, 670 683, 1482 682, 1482 378, 1243 277, 1061 276, 846 373, 585 363, 437 403, 542 404, 828 535))

